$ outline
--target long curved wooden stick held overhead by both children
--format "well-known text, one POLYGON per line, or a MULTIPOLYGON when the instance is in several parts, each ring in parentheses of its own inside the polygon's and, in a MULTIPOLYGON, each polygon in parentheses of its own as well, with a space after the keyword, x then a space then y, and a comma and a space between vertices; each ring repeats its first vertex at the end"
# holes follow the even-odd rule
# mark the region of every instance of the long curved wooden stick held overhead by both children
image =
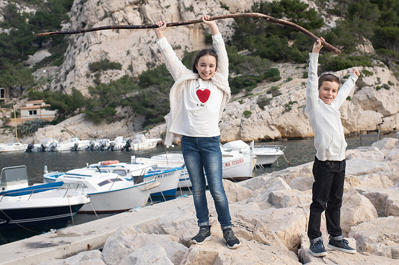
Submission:
MULTIPOLYGON (((308 31, 307 29, 293 23, 287 20, 275 18, 269 15, 265 15, 262 13, 237 13, 237 14, 226 14, 226 15, 216 15, 212 16, 209 18, 209 20, 218 20, 218 19, 225 19, 225 18, 236 18, 236 17, 258 17, 258 18, 263 18, 269 22, 272 23, 277 23, 281 24, 284 26, 292 27, 314 41, 317 39, 320 39, 317 37, 315 34, 312 32, 308 31)), ((195 20, 188 20, 188 21, 181 21, 181 22, 172 22, 172 23, 167 23, 167 27, 174 27, 174 26, 181 26, 181 25, 189 25, 189 24, 195 24, 195 23, 201 23, 201 19, 195 19, 195 20)), ((86 32, 91 32, 91 31, 97 31, 97 30, 105 30, 105 29, 140 29, 140 28, 156 28, 158 27, 156 24, 147 24, 147 25, 113 25, 113 26, 101 26, 101 27, 93 27, 93 28, 87 28, 87 29, 79 29, 79 30, 71 30, 71 31, 54 31, 54 32, 44 32, 44 33, 37 33, 34 36, 35 37, 41 37, 41 36, 54 36, 54 35, 69 35, 69 34, 79 34, 79 33, 86 33, 86 32)), ((332 52, 335 52, 336 54, 341 54, 341 50, 334 47, 330 43, 321 40, 321 43, 324 47, 329 49, 332 52)))

